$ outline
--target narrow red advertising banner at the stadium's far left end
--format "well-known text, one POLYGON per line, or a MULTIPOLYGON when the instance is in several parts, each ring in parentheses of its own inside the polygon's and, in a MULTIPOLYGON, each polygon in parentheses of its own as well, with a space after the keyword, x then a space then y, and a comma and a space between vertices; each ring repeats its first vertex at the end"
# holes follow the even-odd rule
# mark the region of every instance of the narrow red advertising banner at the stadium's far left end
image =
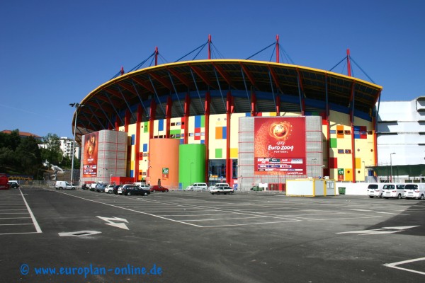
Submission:
POLYGON ((84 135, 83 177, 97 176, 99 132, 84 135))

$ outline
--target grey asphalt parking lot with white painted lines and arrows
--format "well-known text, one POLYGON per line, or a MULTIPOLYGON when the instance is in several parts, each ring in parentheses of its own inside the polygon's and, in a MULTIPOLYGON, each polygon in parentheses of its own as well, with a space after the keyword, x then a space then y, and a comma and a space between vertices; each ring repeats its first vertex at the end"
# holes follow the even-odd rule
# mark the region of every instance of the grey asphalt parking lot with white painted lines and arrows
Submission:
POLYGON ((425 281, 425 201, 36 187, 0 195, 0 282, 425 281))

